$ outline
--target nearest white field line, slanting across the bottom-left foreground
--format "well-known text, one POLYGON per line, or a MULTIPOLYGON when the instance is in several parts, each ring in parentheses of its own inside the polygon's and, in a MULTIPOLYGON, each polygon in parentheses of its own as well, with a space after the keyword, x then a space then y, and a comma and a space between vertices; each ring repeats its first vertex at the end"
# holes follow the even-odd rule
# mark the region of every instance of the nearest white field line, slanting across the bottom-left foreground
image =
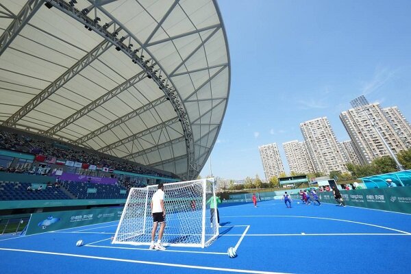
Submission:
POLYGON ((210 271, 225 271, 225 272, 236 272, 236 273, 255 273, 255 274, 289 274, 289 273, 279 273, 279 272, 269 272, 269 271, 253 271, 253 270, 245 270, 245 269, 222 269, 222 268, 219 268, 219 267, 195 266, 195 265, 189 265, 189 264, 169 264, 169 263, 166 263, 166 262, 148 262, 148 261, 140 261, 140 260, 127 260, 127 259, 119 259, 119 258, 86 256, 86 255, 71 254, 71 253, 57 253, 57 252, 46 252, 46 251, 36 251, 36 250, 27 250, 27 249, 7 249, 7 248, 1 248, 0 247, 0 250, 3 250, 3 251, 18 251, 18 252, 27 252, 27 253, 40 253, 40 254, 47 254, 47 255, 67 256, 67 257, 76 257, 76 258, 87 258, 87 259, 96 259, 96 260, 108 260, 108 261, 116 261, 116 262, 132 262, 134 264, 150 264, 150 265, 158 265, 158 266, 171 266, 171 267, 179 267, 179 268, 184 268, 184 269, 203 269, 203 270, 210 270, 210 271))

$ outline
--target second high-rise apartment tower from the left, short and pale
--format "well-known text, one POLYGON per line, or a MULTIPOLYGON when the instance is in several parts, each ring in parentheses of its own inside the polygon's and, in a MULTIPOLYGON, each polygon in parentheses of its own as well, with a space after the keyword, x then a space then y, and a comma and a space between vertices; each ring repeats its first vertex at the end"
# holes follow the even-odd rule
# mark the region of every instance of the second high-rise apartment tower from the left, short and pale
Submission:
POLYGON ((284 151, 290 171, 296 173, 314 173, 314 167, 308 154, 306 142, 299 142, 292 140, 290 142, 283 142, 284 151))

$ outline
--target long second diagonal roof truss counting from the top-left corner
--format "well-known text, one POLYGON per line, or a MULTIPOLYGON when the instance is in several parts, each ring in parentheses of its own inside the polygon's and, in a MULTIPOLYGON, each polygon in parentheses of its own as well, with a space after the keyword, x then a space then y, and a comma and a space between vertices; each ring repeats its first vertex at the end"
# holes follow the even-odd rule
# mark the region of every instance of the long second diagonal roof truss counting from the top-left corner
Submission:
POLYGON ((89 53, 87 53, 82 59, 78 60, 73 66, 71 66, 70 69, 65 71, 60 77, 55 79, 55 81, 47 88, 42 90, 36 97, 34 97, 32 100, 30 100, 28 103, 23 105, 23 107, 18 110, 16 113, 14 113, 10 118, 3 123, 3 125, 12 127, 16 124, 16 122, 20 119, 22 119, 27 113, 31 112, 36 108, 42 101, 45 101, 50 95, 52 95, 55 91, 57 91, 59 88, 64 86, 67 82, 69 82, 70 79, 75 77, 80 71, 82 71, 86 66, 91 64, 94 60, 99 58, 101 54, 103 54, 105 51, 107 51, 112 44, 105 40, 101 42, 97 47, 92 49, 89 53))

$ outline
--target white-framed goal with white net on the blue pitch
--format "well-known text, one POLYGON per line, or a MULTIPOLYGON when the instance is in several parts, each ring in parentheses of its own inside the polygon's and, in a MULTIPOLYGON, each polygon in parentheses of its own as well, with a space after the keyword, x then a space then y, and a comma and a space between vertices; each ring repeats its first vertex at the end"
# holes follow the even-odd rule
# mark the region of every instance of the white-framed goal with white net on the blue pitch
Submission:
MULTIPOLYGON (((214 185, 214 178, 164 184, 164 246, 208 247, 219 236, 216 209, 211 214, 207 204, 215 194, 214 185)), ((113 244, 150 245, 150 203, 157 189, 158 185, 153 185, 129 191, 113 244)))

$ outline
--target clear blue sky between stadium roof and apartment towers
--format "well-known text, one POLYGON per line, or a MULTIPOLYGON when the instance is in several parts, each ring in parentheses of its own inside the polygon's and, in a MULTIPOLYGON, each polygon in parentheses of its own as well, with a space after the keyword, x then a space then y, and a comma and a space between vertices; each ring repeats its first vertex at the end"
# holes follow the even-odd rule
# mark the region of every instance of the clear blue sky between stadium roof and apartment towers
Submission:
MULTIPOLYGON (((411 121, 411 1, 220 0, 231 90, 211 154, 214 176, 264 178, 258 146, 302 141, 299 124, 338 115, 365 95, 411 121)), ((201 176, 210 174, 207 162, 201 176)))

